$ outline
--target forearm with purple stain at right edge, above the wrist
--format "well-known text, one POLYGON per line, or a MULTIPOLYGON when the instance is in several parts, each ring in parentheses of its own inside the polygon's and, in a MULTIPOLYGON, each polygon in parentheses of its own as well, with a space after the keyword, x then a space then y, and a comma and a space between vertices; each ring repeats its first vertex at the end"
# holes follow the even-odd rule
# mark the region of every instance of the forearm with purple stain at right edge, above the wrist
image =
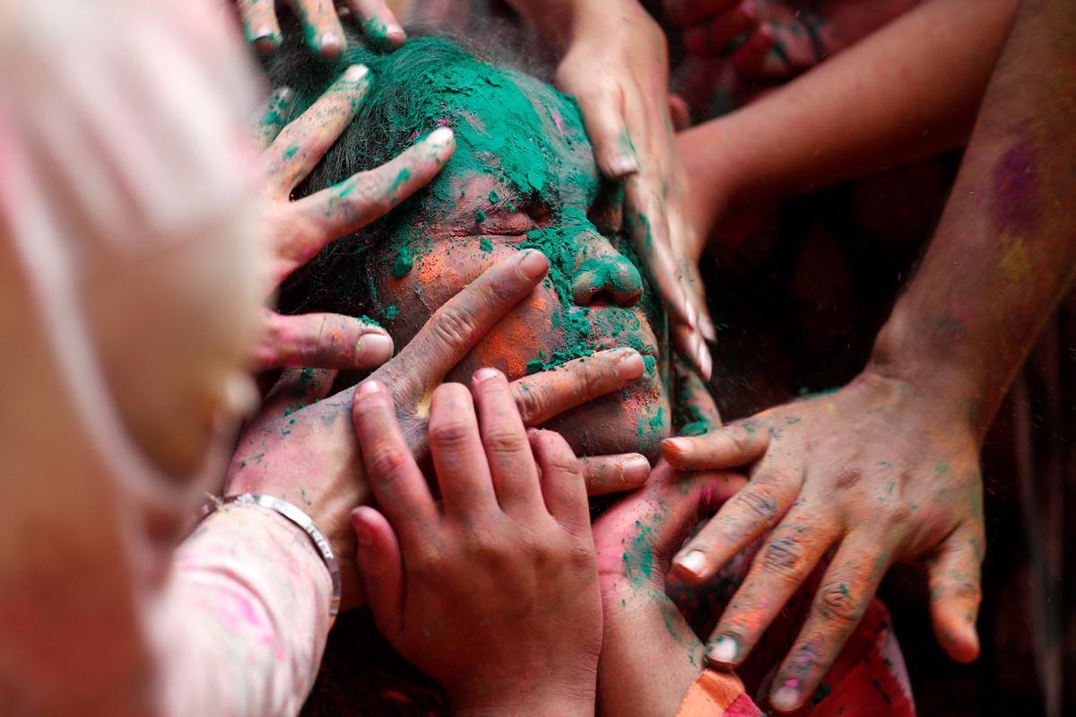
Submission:
POLYGON ((922 267, 872 367, 959 405, 985 433, 1071 284, 1076 5, 1023 3, 922 267))

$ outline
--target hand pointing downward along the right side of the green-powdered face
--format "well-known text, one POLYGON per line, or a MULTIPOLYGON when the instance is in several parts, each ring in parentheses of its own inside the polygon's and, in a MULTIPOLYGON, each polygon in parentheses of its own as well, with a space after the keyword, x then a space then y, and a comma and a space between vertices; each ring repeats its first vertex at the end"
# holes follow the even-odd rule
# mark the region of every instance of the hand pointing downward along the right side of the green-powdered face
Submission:
POLYGON ((716 334, 702 285, 681 265, 684 177, 664 101, 665 36, 636 0, 575 4, 556 84, 579 101, 603 174, 625 181, 624 226, 665 301, 677 347, 708 379, 704 337, 716 334))

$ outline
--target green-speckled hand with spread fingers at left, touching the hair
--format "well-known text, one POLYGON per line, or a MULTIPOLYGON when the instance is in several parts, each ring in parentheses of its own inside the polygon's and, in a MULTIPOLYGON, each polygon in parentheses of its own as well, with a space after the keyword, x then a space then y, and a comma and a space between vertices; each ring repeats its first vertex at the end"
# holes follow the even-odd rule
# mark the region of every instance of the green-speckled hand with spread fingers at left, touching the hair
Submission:
MULTIPOLYGON (((436 129, 377 169, 291 201, 295 187, 354 118, 369 86, 365 67, 349 68, 283 130, 291 92, 278 90, 266 106, 254 135, 263 146, 268 145, 261 155, 266 175, 261 221, 271 237, 273 287, 326 244, 386 214, 429 182, 455 149, 452 130, 436 129)), ((373 368, 393 354, 388 334, 360 319, 331 313, 286 317, 268 309, 264 315, 265 327, 254 355, 258 369, 373 368)))

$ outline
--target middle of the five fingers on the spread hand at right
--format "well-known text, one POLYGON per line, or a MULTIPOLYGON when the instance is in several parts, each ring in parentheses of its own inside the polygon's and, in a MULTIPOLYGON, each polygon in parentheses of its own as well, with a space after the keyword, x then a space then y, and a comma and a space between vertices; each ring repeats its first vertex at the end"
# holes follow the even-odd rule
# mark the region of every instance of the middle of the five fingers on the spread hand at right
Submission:
POLYGON ((755 554, 747 578, 728 601, 710 636, 706 659, 724 666, 742 662, 838 534, 824 517, 790 514, 755 554))

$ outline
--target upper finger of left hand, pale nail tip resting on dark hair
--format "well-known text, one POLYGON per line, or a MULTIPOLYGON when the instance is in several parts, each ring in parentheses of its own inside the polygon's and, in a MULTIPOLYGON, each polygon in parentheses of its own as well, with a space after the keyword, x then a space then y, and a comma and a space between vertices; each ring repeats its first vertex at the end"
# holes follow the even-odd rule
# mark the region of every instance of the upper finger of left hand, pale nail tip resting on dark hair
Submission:
POLYGON ((310 109, 284 127, 261 158, 270 197, 287 199, 355 117, 369 87, 370 71, 352 65, 310 109))

